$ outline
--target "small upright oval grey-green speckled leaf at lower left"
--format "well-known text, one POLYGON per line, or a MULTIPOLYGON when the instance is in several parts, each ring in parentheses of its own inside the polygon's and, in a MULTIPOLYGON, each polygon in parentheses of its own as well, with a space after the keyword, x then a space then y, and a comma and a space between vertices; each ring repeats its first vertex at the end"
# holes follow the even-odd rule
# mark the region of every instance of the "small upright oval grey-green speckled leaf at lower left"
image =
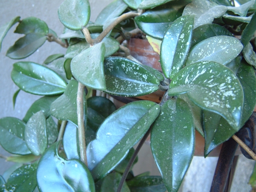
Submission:
POLYGON ((46 119, 42 111, 35 113, 27 122, 25 141, 29 150, 34 155, 43 154, 47 149, 46 119))

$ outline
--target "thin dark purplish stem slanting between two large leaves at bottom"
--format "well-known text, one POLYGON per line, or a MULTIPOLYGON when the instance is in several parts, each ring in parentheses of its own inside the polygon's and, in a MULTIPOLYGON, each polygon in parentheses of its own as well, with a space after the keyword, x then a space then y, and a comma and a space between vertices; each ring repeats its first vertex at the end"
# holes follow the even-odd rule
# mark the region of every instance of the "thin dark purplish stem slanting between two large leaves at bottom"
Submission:
POLYGON ((120 180, 120 183, 119 183, 119 185, 118 185, 118 188, 117 188, 116 192, 121 192, 122 186, 123 186, 123 184, 125 183, 125 179, 126 179, 128 173, 130 172, 131 166, 132 166, 132 164, 134 163, 134 160, 136 159, 137 154, 139 153, 140 148, 142 147, 143 143, 144 143, 145 140, 148 138, 148 135, 150 134, 151 129, 152 129, 152 126, 150 126, 150 128, 148 129, 148 131, 146 132, 146 134, 145 134, 145 135, 143 136, 143 138, 140 140, 139 145, 138 145, 137 148, 135 149, 134 154, 132 155, 131 159, 129 160, 129 162, 128 162, 126 168, 125 168, 125 172, 124 172, 123 175, 122 175, 122 178, 121 178, 121 180, 120 180))

